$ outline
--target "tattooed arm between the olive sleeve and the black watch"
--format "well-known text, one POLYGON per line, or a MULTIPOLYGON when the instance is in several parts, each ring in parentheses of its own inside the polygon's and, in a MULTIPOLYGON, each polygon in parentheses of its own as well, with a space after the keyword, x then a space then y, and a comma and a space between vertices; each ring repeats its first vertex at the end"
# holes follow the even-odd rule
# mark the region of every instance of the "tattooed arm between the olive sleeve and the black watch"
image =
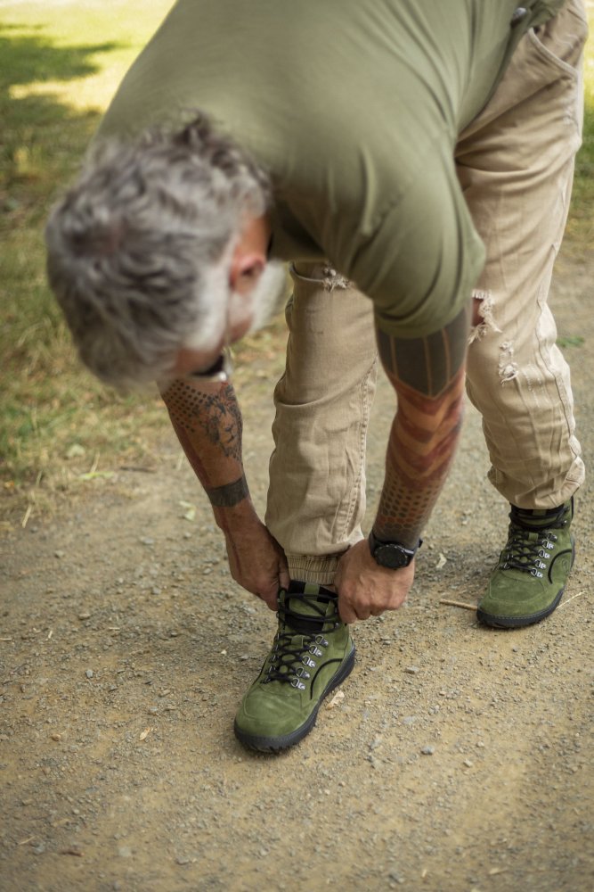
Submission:
POLYGON ((462 419, 466 310, 441 332, 405 341, 378 332, 398 395, 386 477, 373 524, 379 539, 415 546, 443 487, 462 419))

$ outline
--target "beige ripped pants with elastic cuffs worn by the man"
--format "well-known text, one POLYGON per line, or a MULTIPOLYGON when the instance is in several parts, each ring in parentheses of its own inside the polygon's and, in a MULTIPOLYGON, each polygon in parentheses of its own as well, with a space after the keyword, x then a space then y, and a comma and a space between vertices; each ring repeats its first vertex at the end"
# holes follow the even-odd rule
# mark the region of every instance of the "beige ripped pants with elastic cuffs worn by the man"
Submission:
MULTIPOLYGON (((468 396, 483 417, 490 479, 520 508, 561 504, 584 474, 547 298, 581 142, 586 33, 582 0, 528 32, 456 149, 487 252, 474 293, 483 321, 470 336, 468 396)), ((323 264, 297 263, 291 273, 266 524, 292 578, 328 584, 340 554, 362 538, 378 360, 370 301, 323 264)))

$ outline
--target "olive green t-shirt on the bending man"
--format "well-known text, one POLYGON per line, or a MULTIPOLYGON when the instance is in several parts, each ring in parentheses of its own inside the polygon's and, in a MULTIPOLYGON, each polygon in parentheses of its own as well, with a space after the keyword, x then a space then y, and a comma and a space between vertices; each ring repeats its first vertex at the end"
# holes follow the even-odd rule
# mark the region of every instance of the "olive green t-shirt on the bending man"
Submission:
POLYGON ((370 297, 383 330, 431 334, 484 263, 457 137, 522 33, 562 4, 178 0, 98 136, 206 112, 272 178, 275 256, 327 258, 370 297))

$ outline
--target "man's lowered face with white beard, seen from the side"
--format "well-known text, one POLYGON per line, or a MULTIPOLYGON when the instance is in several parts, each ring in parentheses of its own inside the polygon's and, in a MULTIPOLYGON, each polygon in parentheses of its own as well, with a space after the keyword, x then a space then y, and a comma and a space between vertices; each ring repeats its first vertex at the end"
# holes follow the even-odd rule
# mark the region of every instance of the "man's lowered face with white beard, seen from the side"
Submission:
POLYGON ((226 344, 236 343, 245 335, 268 325, 286 300, 287 277, 281 263, 269 262, 262 273, 241 290, 230 286, 226 326, 213 341, 212 349, 182 348, 178 351, 173 372, 186 376, 210 368, 226 344))

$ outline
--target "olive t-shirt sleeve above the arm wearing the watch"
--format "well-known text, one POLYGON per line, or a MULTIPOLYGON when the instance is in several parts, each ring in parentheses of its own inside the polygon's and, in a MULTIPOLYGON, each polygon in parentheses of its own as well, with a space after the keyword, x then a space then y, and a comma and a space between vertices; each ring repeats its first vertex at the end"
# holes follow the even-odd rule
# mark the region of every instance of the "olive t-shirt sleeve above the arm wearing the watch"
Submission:
POLYGON ((420 337, 458 315, 483 265, 484 245, 443 147, 362 244, 349 274, 373 301, 380 330, 420 337))

